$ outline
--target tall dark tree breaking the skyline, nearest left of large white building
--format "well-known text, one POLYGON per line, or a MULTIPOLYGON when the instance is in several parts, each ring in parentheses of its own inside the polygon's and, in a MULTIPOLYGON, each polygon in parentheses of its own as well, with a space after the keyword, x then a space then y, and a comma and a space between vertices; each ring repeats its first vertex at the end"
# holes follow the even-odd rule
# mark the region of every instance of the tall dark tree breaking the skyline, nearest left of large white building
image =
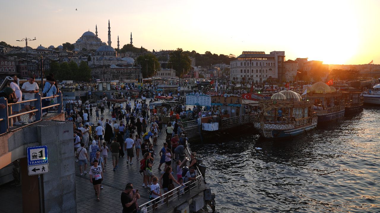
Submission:
POLYGON ((191 59, 184 53, 181 48, 177 48, 173 53, 170 53, 169 63, 173 64, 173 69, 176 70, 176 76, 187 74, 191 70, 191 59))

